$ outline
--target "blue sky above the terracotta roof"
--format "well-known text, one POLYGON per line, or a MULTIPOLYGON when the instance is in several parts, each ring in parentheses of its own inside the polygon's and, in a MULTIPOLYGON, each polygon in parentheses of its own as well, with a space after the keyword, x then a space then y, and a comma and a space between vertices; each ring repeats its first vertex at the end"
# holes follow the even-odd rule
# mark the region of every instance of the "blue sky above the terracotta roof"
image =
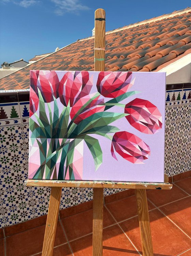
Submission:
POLYGON ((175 10, 190 0, 1 0, 0 64, 52 52, 92 35, 94 11, 106 11, 106 31, 175 10))

